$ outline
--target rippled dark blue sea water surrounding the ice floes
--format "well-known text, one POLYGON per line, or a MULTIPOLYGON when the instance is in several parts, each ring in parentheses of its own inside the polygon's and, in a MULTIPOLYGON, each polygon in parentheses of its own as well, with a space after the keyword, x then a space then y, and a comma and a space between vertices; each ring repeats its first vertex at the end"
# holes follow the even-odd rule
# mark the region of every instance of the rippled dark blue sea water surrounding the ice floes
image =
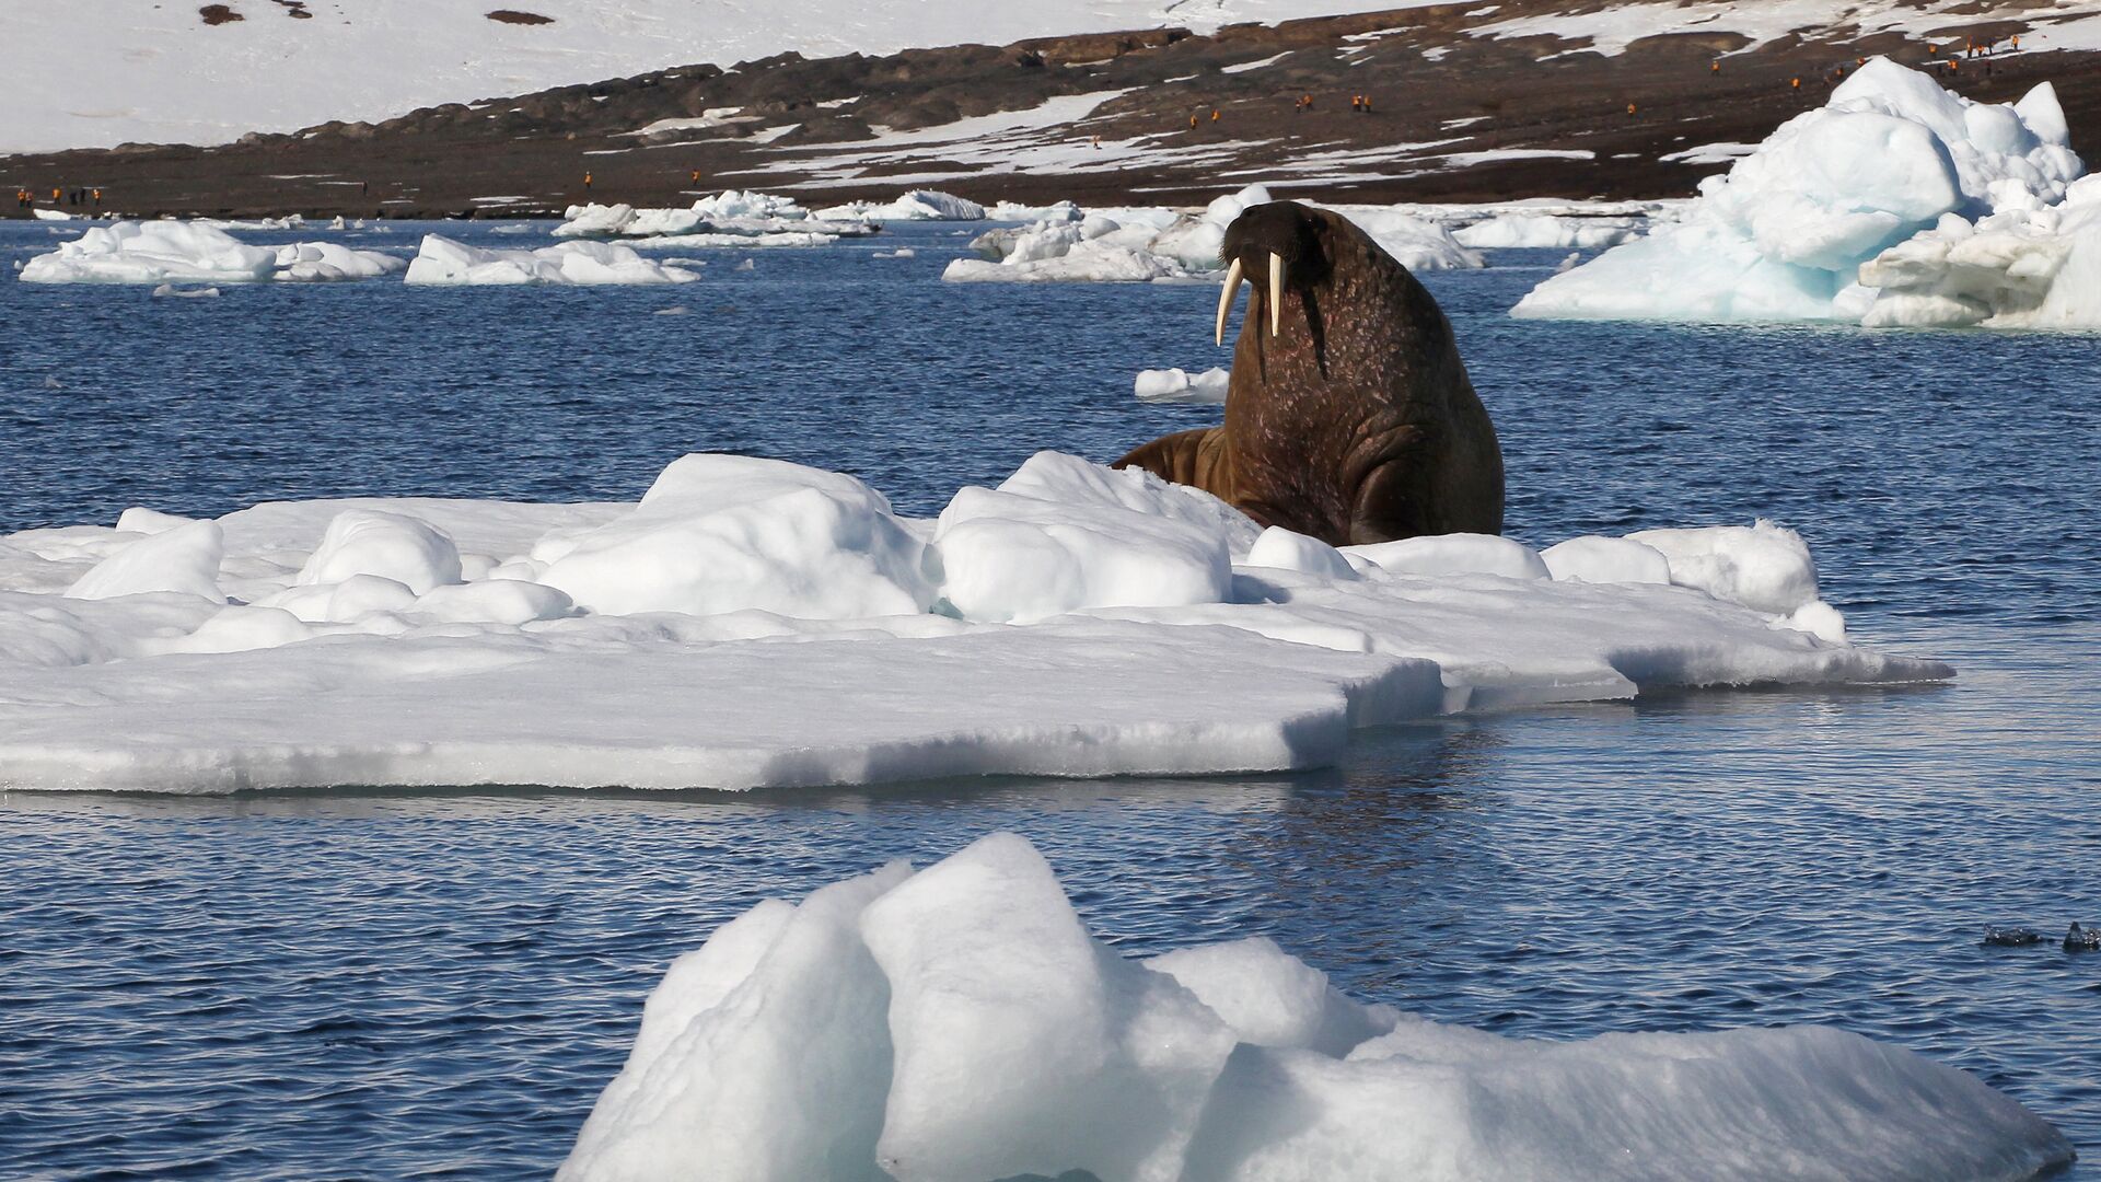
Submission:
MULTIPOLYGON (((0 261, 50 242, 0 227, 0 261)), ((0 530, 632 498, 687 450, 933 513, 1038 448, 1210 421, 1130 374, 1225 362, 1214 288, 937 282, 964 242, 691 252, 683 288, 0 278, 0 530)), ((544 1176, 670 957, 992 829, 1130 953, 1267 934, 1361 999, 1513 1035, 1832 1022, 2006 1089, 2090 1176, 2101 953, 1979 936, 2101 921, 2101 343, 1504 318, 1553 261, 1427 276, 1502 433, 1511 532, 1769 515, 1855 637, 1958 681, 1448 719, 1303 776, 0 795, 0 1176, 544 1176)))

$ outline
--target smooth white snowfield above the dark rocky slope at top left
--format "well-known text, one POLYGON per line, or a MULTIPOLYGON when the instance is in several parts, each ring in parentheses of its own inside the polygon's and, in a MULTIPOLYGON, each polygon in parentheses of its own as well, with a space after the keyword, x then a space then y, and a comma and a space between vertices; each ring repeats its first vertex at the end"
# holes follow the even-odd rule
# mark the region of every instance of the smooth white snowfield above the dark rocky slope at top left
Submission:
MULTIPOLYGON (((382 120, 674 65, 895 53, 958 42, 1391 8, 1393 0, 864 0, 763 6, 735 0, 534 0, 548 25, 508 25, 490 4, 311 0, 313 19, 231 0, 242 19, 204 25, 197 4, 99 0, 0 4, 0 76, 13 82, 0 154, 143 143, 227 143, 250 130, 382 120), (92 84, 84 82, 92 80, 92 84)), ((1401 4, 1406 6, 1406 4, 1401 4)))

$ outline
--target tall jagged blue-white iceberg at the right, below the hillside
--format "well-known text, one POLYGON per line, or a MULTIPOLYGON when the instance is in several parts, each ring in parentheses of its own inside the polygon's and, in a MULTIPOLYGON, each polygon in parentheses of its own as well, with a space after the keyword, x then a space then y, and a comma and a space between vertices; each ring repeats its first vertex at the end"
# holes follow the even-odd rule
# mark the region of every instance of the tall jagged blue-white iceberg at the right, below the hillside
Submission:
POLYGON ((1513 315, 2101 328, 2101 181, 2048 82, 1975 103, 1874 59, 1700 185, 1683 221, 1513 315))

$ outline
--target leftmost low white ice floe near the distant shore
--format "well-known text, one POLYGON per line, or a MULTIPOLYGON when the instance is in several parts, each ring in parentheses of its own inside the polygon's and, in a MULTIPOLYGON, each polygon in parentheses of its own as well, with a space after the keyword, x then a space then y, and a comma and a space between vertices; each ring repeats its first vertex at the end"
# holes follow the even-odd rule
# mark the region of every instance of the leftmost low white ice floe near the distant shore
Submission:
POLYGON ((25 284, 263 284, 376 280, 408 263, 336 242, 250 246, 195 221, 120 221, 97 225, 38 254, 21 269, 25 284))

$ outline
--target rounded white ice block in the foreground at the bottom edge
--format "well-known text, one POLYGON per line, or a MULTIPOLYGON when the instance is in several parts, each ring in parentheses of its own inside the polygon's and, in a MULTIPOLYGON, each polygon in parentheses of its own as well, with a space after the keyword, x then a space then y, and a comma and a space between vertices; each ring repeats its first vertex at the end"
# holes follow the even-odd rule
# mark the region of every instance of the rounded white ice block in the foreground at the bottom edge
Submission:
POLYGON ((1269 940, 1126 959, 994 833, 672 961, 559 1182, 2013 1182, 1979 1079, 1830 1026, 1557 1043, 1366 1005, 1269 940))

